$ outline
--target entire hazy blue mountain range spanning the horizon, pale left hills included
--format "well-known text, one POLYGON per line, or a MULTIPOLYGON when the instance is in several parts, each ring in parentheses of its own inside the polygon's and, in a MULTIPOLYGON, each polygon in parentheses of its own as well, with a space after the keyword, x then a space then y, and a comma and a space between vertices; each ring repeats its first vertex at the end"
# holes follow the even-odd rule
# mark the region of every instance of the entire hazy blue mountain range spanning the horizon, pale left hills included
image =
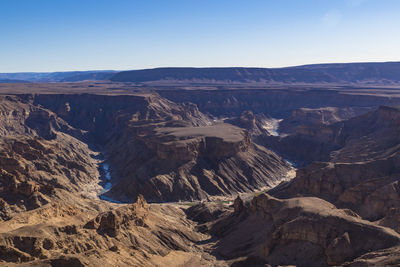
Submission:
POLYGON ((1 79, 28 82, 114 82, 162 84, 400 84, 400 62, 314 64, 285 68, 155 68, 130 71, 0 73, 1 79))

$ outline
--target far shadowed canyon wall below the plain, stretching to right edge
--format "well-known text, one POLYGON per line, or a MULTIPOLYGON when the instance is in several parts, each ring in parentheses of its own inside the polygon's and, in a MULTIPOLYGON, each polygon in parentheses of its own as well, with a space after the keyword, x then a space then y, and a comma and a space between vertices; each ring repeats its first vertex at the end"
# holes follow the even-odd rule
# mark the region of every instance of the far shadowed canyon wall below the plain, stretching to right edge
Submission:
POLYGON ((346 94, 334 90, 159 90, 162 97, 176 103, 192 102, 204 113, 215 116, 240 116, 251 110, 285 118, 300 108, 377 108, 379 105, 399 105, 397 97, 367 94, 346 94))

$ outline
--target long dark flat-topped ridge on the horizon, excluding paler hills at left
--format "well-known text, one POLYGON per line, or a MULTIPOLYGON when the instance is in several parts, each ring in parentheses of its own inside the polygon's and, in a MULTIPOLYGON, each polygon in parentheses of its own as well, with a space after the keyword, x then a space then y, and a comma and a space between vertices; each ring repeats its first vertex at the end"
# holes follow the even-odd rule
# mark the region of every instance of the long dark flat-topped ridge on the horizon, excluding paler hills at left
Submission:
POLYGON ((157 68, 123 71, 118 82, 400 83, 400 62, 317 64, 286 68, 157 68))

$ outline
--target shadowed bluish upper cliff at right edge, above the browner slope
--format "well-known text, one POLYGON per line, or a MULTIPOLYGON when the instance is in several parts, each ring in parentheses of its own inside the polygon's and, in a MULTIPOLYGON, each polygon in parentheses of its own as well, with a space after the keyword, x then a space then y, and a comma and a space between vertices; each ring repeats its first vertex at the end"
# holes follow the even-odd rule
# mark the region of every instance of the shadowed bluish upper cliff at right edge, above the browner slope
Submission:
POLYGON ((333 124, 300 125, 294 134, 267 136, 261 143, 299 166, 385 159, 398 151, 399 119, 397 108, 381 106, 333 124))

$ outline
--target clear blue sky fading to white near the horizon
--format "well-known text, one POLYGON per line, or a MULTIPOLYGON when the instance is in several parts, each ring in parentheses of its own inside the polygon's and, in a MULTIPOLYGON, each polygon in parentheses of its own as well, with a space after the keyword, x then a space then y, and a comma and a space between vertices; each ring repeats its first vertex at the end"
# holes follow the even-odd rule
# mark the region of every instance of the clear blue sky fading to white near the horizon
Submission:
POLYGON ((399 0, 0 0, 0 72, 400 61, 399 0))

